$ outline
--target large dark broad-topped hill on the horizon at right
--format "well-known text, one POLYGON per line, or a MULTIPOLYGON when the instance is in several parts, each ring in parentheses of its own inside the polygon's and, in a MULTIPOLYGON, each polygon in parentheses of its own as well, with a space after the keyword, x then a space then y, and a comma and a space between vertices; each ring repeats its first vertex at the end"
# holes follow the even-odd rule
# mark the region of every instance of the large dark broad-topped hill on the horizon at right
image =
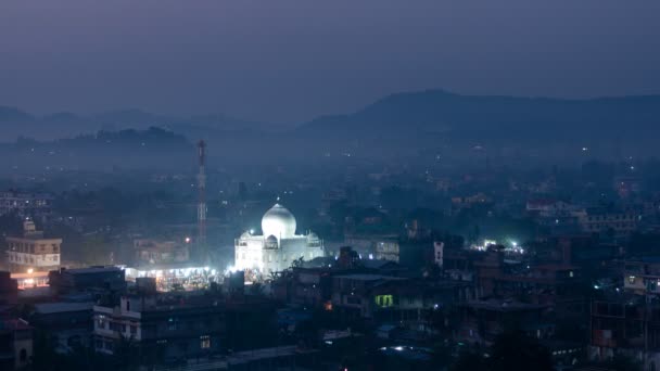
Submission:
POLYGON ((397 93, 350 115, 300 127, 305 136, 442 133, 453 139, 536 140, 660 130, 660 95, 561 100, 460 95, 443 90, 397 93))

